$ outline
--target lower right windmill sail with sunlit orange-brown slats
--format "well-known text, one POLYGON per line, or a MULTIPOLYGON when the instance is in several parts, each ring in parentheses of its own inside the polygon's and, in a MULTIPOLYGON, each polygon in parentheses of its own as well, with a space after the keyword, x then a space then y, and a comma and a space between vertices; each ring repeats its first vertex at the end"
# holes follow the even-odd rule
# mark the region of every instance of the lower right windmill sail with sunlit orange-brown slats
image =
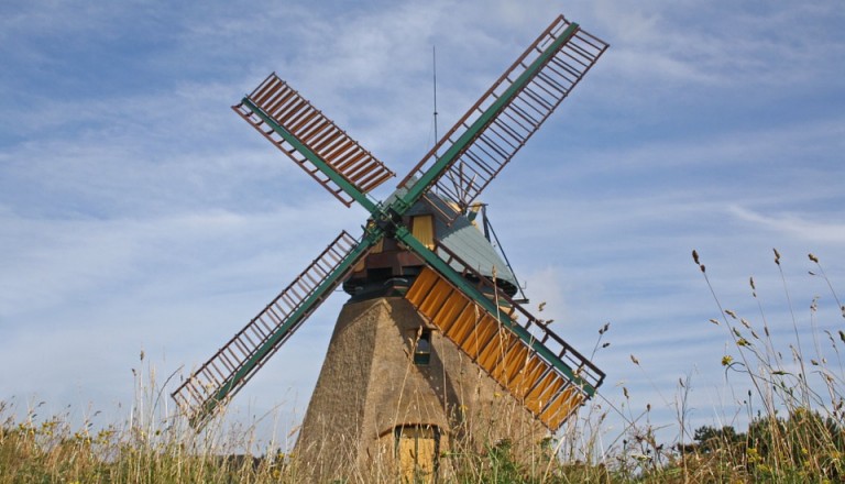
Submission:
POLYGON ((595 394, 604 373, 454 253, 442 245, 437 252, 448 265, 463 265, 460 276, 478 280, 479 290, 459 288, 426 267, 405 297, 546 427, 560 428, 595 394), (486 296, 472 294, 495 295, 495 312, 486 296))

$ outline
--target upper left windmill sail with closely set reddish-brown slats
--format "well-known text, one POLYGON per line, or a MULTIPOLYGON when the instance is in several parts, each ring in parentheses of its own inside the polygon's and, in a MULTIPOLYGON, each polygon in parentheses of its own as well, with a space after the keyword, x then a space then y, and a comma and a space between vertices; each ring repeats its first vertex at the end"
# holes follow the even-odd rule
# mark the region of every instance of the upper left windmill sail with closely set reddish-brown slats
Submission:
POLYGON ((347 207, 394 176, 275 73, 232 109, 347 207))

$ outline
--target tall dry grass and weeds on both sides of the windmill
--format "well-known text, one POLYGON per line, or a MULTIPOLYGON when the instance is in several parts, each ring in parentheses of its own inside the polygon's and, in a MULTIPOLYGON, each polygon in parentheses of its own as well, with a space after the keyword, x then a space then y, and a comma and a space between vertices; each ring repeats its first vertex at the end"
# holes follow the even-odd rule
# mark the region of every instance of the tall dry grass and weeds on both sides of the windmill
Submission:
MULTIPOLYGON (((679 384, 679 416, 671 441, 658 441, 650 408, 638 416, 623 415, 607 399, 597 399, 570 421, 556 439, 538 442, 531 463, 517 462, 508 442, 490 442, 482 451, 461 442, 441 455, 453 469, 450 481, 460 483, 569 482, 842 482, 845 480, 845 369, 841 350, 843 320, 817 321, 816 299, 810 307, 810 328, 792 314, 794 341, 777 348, 759 302, 754 279, 749 290, 759 312, 744 317, 722 307, 707 273, 693 252, 718 308, 715 331, 724 331, 729 351, 722 365, 735 388, 746 388, 746 429, 689 428, 684 420, 689 387, 679 384), (809 332, 806 330, 810 330, 809 332), (811 334, 812 342, 801 342, 811 334), (806 337, 805 337, 806 338, 806 337), (812 351, 806 351, 812 346, 812 351), (828 361, 828 359, 831 361, 828 361), (625 428, 608 435, 608 419, 625 428)), ((833 285, 812 254, 812 275, 822 278, 845 318, 833 285)), ((780 270, 780 255, 775 252, 780 270)), ((784 298, 789 287, 780 273, 784 298)), ((828 299, 828 298, 825 298, 828 299)), ((607 327, 600 330, 599 346, 607 327)), ((606 343, 602 344, 606 346, 606 343)), ((141 355, 143 362, 143 354, 141 355)), ((632 355, 632 362, 639 364, 632 355)), ((714 362, 713 364, 718 364, 714 362)), ((69 415, 41 417, 39 406, 23 409, 0 402, 0 484, 2 483, 180 483, 180 482, 300 482, 295 459, 272 450, 261 457, 243 455, 255 446, 253 428, 223 428, 212 424, 197 436, 184 422, 164 418, 164 385, 154 375, 135 374, 136 398, 121 424, 95 428, 90 420, 73 426, 69 415), (23 415, 23 417, 21 417, 23 415)), ((621 397, 624 407, 627 389, 621 397)), ((270 449, 277 449, 271 444, 270 449)), ((389 472, 382 476, 395 475, 389 472)), ((370 482, 351 475, 349 482, 370 482)), ((391 477, 389 482, 396 482, 391 477)))

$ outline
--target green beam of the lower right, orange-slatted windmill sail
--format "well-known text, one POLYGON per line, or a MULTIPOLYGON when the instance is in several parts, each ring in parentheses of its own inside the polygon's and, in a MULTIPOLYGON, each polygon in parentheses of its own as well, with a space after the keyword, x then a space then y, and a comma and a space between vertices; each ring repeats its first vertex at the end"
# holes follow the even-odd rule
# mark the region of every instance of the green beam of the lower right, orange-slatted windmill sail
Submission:
POLYGON ((586 393, 590 397, 595 395, 595 387, 593 385, 591 385, 584 378, 575 375, 569 365, 561 361, 560 358, 552 353, 551 350, 549 350, 545 344, 537 341, 537 339, 534 338, 534 336, 531 336, 528 330, 517 324, 507 315, 498 311, 498 308, 489 297, 484 296, 478 288, 475 288, 474 285, 470 284, 469 280, 461 277, 461 275, 458 274, 458 272, 454 271, 449 264, 447 264, 446 261, 440 258, 439 255, 419 242, 419 240, 411 235, 407 228, 397 228, 396 239, 402 241, 406 248, 410 249, 414 253, 419 255, 429 266, 446 277, 452 285, 458 287, 467 296, 471 297, 478 305, 484 308, 484 310, 491 315, 498 314, 497 319, 503 326, 513 331, 517 337, 519 337, 520 340, 523 340, 525 344, 528 345, 528 348, 536 351, 544 360, 560 371, 564 376, 567 376, 570 381, 583 389, 584 393, 586 393))

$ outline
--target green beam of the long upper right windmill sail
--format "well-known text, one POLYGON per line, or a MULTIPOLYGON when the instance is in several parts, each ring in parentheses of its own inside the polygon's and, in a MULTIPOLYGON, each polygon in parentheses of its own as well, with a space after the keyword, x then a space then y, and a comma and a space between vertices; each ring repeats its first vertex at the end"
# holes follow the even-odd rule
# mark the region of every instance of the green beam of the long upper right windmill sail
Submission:
POLYGON ((530 80, 537 75, 537 73, 549 62, 549 59, 560 50, 560 47, 569 42, 570 38, 578 32, 578 24, 572 22, 567 30, 558 36, 544 52, 540 54, 528 68, 523 72, 519 77, 496 99, 480 117, 476 119, 467 131, 461 134, 458 141, 454 142, 449 148, 438 158, 438 161, 431 165, 431 167, 422 174, 421 177, 408 189, 408 191, 400 199, 396 200, 392 208, 399 215, 407 211, 422 195, 428 191, 429 187, 446 172, 449 166, 460 156, 464 148, 472 143, 475 138, 491 123, 495 117, 523 90, 523 88, 530 82, 530 80))

